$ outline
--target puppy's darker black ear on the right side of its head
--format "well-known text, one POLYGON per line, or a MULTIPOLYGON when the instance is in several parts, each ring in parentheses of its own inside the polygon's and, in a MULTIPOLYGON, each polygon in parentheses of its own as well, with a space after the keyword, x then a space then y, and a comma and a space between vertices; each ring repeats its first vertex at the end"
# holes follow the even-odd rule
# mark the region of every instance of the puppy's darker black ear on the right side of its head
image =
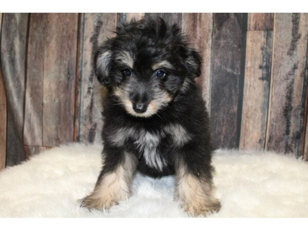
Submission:
POLYGON ((191 76, 192 79, 195 79, 200 76, 202 59, 200 54, 196 50, 188 50, 185 64, 188 70, 188 75, 191 76))

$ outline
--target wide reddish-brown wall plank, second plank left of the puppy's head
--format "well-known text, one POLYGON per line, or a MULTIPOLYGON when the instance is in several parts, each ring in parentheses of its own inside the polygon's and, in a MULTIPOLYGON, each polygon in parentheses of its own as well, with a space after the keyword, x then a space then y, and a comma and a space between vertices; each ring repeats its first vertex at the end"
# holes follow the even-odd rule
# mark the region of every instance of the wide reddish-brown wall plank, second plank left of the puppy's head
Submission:
POLYGON ((78 14, 46 15, 43 146, 55 146, 74 136, 78 14))

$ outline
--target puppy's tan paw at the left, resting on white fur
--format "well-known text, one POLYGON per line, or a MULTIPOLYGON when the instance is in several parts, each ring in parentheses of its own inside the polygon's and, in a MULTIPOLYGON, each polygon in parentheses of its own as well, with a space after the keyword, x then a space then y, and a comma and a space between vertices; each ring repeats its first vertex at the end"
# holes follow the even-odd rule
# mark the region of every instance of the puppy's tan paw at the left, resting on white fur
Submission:
POLYGON ((97 197, 91 194, 80 200, 81 206, 88 209, 94 208, 98 210, 109 209, 112 205, 118 204, 118 201, 111 197, 97 197))

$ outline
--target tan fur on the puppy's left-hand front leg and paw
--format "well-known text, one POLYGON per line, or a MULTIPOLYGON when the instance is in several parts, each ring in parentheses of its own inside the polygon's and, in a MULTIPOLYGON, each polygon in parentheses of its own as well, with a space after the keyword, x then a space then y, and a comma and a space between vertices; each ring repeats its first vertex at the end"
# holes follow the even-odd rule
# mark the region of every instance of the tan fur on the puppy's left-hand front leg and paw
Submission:
POLYGON ((136 170, 137 160, 125 153, 123 164, 108 175, 99 179, 91 195, 82 199, 82 205, 88 208, 108 209, 130 195, 130 185, 136 170))

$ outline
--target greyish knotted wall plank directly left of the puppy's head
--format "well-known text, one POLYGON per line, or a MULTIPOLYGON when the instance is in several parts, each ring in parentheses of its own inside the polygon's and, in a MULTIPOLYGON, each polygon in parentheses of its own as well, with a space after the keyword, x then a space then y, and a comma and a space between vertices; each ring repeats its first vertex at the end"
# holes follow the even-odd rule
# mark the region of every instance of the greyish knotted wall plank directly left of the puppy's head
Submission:
POLYGON ((101 112, 105 88, 99 84, 94 73, 92 54, 99 44, 114 34, 116 13, 86 13, 81 22, 80 86, 78 109, 78 141, 101 141, 103 126, 101 112))

